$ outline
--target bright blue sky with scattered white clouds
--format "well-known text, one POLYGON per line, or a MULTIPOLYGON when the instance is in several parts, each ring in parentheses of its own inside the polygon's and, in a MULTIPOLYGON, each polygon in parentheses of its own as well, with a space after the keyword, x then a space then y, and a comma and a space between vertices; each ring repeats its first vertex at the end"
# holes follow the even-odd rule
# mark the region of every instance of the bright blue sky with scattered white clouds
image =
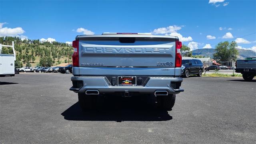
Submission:
POLYGON ((82 34, 151 32, 176 35, 192 50, 236 40, 256 51, 255 0, 0 0, 0 23, 0 36, 72 42, 82 34))

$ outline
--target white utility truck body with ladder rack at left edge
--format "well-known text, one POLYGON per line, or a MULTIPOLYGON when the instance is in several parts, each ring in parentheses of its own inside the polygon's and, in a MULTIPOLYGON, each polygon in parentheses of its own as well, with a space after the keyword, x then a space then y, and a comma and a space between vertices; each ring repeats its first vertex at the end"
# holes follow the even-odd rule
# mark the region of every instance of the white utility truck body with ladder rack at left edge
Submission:
POLYGON ((0 44, 0 76, 14 76, 14 60, 16 60, 16 53, 14 50, 14 42, 12 41, 12 46, 0 44), (2 47, 12 47, 13 54, 2 54, 2 47))

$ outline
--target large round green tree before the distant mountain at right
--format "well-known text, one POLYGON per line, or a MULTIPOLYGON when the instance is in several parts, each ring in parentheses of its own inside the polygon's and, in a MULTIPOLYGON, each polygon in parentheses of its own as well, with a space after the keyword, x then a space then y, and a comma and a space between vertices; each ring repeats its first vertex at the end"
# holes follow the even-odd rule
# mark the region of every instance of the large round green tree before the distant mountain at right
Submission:
POLYGON ((236 50, 237 44, 236 42, 219 42, 217 46, 215 46, 216 53, 213 55, 214 59, 221 62, 226 62, 229 60, 236 61, 238 50, 236 50))

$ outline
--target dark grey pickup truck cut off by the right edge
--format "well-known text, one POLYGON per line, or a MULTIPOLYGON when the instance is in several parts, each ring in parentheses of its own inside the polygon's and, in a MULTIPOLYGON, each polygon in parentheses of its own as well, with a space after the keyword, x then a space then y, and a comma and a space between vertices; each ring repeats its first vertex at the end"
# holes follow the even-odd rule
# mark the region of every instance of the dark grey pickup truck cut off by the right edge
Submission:
POLYGON ((256 58, 252 58, 251 60, 237 60, 236 72, 241 73, 244 80, 252 80, 256 76, 256 58))

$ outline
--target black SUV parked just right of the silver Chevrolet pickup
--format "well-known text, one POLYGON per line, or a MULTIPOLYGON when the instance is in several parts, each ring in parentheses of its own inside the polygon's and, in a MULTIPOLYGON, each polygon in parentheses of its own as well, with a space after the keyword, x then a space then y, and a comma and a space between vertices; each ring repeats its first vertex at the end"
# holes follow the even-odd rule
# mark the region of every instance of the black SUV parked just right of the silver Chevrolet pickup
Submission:
POLYGON ((186 78, 188 78, 190 74, 197 74, 197 76, 202 76, 204 66, 201 60, 182 60, 181 70, 182 76, 185 76, 186 78))

